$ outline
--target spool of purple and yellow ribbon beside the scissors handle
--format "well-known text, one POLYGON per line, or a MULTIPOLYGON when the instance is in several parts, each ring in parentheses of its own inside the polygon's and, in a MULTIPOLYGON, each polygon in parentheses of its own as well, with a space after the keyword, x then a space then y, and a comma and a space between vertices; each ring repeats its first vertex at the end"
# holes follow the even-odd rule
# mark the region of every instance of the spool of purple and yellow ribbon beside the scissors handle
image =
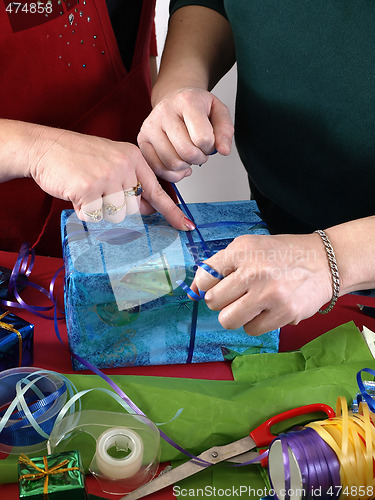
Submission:
POLYGON ((336 417, 278 436, 268 455, 275 498, 374 498, 373 419, 366 403, 350 414, 339 397, 336 417))

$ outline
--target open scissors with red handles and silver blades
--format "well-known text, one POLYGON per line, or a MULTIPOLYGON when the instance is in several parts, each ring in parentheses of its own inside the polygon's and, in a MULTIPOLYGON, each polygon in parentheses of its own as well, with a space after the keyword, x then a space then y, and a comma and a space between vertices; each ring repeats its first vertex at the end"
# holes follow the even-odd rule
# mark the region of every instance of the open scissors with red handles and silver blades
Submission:
POLYGON ((299 406, 298 408, 284 411, 266 420, 266 422, 251 431, 249 436, 224 446, 214 446, 204 451, 196 458, 179 465, 165 474, 160 474, 156 479, 128 493, 125 497, 121 498, 121 500, 137 500, 138 498, 143 498, 219 462, 227 461, 244 464, 252 460, 252 463, 261 463, 261 465, 267 466, 266 456, 251 450, 254 448, 269 447, 276 437, 271 433, 271 427, 291 418, 309 415, 315 412, 323 412, 328 418, 333 418, 335 416, 334 410, 323 403, 299 406), (257 458, 259 458, 259 460, 256 460, 257 458))

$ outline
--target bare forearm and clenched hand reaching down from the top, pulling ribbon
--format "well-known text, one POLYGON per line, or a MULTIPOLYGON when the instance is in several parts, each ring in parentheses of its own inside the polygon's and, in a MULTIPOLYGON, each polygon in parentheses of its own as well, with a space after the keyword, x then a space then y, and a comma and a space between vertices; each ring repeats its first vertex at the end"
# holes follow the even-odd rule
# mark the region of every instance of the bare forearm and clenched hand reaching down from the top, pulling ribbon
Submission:
POLYGON ((172 15, 152 92, 154 110, 138 136, 142 153, 160 177, 178 181, 215 149, 230 153, 229 111, 208 91, 234 61, 231 28, 221 14, 190 6, 172 15))

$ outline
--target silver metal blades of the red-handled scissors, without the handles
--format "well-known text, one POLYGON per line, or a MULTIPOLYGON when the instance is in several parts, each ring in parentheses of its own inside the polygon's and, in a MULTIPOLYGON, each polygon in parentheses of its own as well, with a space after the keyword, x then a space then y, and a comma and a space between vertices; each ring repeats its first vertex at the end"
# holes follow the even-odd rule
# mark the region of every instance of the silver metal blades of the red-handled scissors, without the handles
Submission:
MULTIPOLYGON (((206 450, 198 455, 198 458, 205 460, 211 465, 214 465, 219 462, 223 462, 224 460, 228 460, 235 455, 241 455, 251 450, 251 448, 253 448, 254 446, 254 440, 251 437, 247 436, 224 446, 215 446, 213 448, 210 448, 209 450, 206 450)), ((209 465, 207 465, 207 467, 209 467, 209 465)), ((162 490, 163 488, 166 488, 171 484, 177 483, 178 481, 181 481, 181 479, 192 476, 193 474, 196 474, 197 472, 200 472, 205 468, 206 467, 204 465, 199 465, 198 463, 196 463, 195 459, 189 460, 189 462, 179 465, 175 469, 172 469, 165 474, 161 474, 156 479, 153 479, 149 483, 141 486, 131 493, 128 493, 120 500, 137 500, 138 498, 143 498, 147 495, 150 495, 151 493, 162 490)))

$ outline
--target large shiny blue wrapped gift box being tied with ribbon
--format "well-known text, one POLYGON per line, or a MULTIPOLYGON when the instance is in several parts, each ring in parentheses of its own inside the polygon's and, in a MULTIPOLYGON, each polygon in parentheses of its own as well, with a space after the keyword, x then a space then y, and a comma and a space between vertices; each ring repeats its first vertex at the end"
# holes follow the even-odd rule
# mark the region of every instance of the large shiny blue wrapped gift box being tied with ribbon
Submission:
MULTIPOLYGON (((159 214, 121 224, 62 214, 65 313, 70 348, 100 368, 206 362, 228 352, 277 352, 279 330, 258 337, 225 330, 188 285, 196 262, 242 234, 268 234, 254 201, 188 205, 196 230, 176 231, 159 214), (250 349, 250 351, 249 351, 250 349)), ((72 360, 74 369, 84 367, 72 360)))

